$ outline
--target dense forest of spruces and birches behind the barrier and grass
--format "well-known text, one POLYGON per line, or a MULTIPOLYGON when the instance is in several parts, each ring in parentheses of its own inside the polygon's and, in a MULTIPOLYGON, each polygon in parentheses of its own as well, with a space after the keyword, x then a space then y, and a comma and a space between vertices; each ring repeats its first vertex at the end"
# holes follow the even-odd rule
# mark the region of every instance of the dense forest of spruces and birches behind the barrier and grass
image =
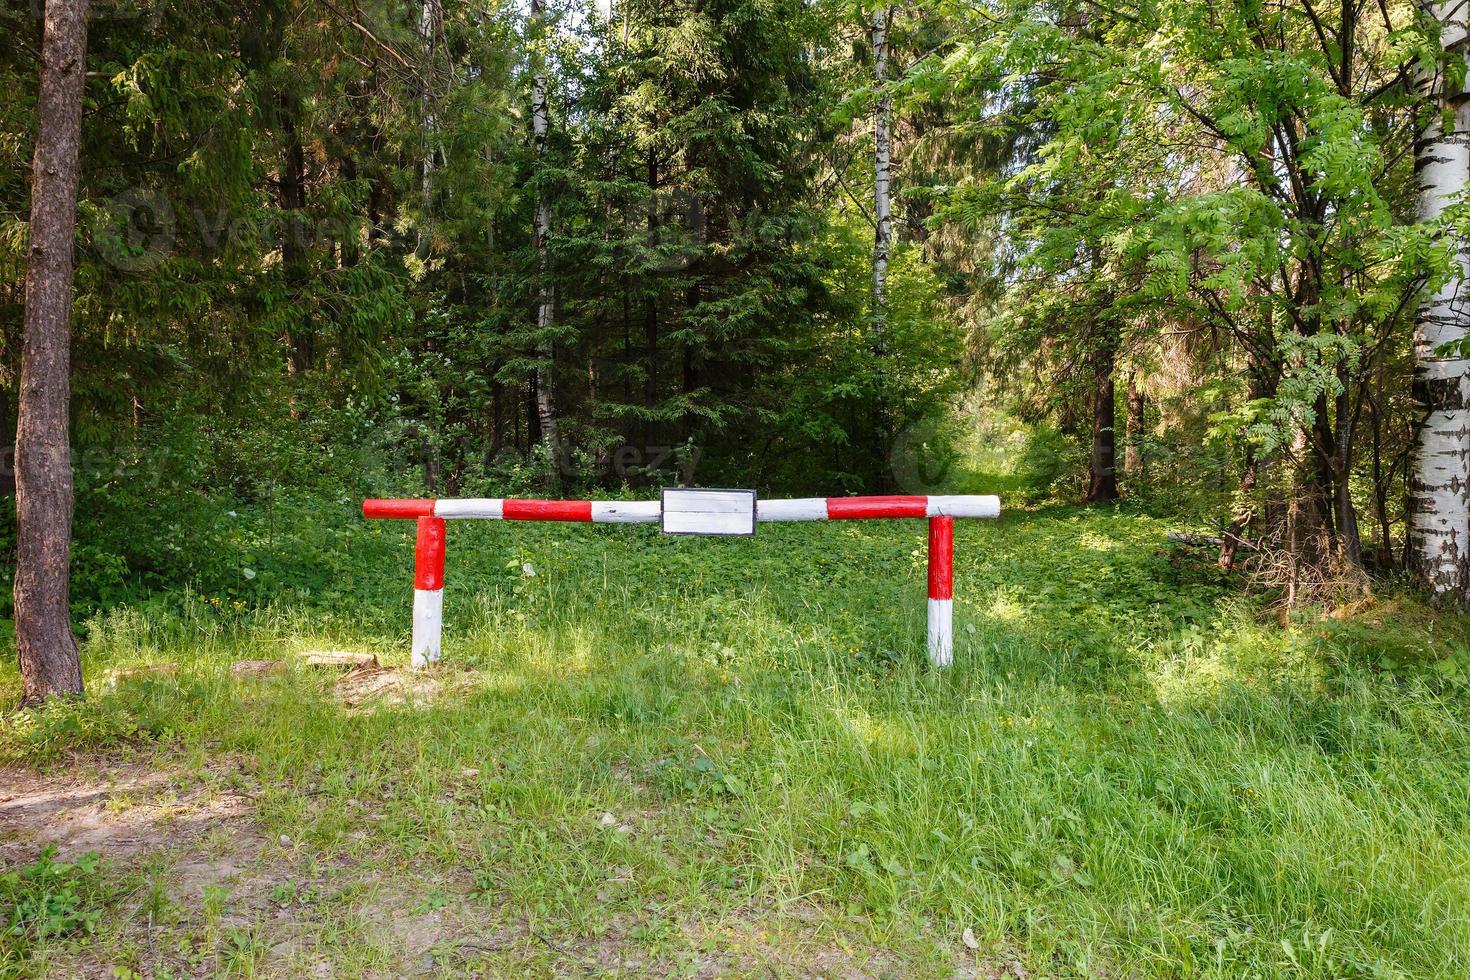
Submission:
MULTIPOLYGON (((41 19, 3 16, 13 433, 41 19)), ((1463 594, 1463 40, 1351 0, 96 3, 74 599, 207 576, 201 529, 293 491, 923 492, 1007 419, 1017 492, 1189 513, 1289 601, 1463 594)))

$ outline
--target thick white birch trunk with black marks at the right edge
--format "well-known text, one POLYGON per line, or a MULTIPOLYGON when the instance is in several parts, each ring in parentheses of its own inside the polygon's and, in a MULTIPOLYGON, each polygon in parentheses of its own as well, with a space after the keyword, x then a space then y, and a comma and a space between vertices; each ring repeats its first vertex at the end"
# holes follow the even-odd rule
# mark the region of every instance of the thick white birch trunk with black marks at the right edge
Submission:
MULTIPOLYGON (((1460 6, 1435 3, 1429 12, 1439 19, 1446 51, 1466 41, 1460 6)), ((1419 178, 1419 217, 1438 219, 1470 176, 1467 153, 1467 106, 1463 93, 1446 91, 1444 72, 1424 79, 1426 96, 1438 109, 1454 109, 1454 129, 1446 131, 1442 113, 1435 113, 1414 148, 1419 178)), ((1464 251, 1460 264, 1466 270, 1464 251)), ((1464 341, 1467 316, 1452 278, 1423 298, 1414 316, 1414 463, 1408 495, 1407 560, 1414 574, 1436 595, 1460 601, 1470 588, 1470 382, 1467 360, 1445 344, 1464 341)))

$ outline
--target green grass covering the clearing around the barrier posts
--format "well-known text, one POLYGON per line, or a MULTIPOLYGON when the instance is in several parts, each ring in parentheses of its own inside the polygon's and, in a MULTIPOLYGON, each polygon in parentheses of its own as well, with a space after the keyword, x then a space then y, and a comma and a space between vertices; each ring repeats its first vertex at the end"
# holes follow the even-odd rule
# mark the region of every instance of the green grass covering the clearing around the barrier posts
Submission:
MULTIPOLYGON (((1404 602, 1264 624, 1176 570, 1164 529, 960 522, 956 667, 936 673, 917 522, 745 541, 466 522, 447 663, 347 710, 291 658, 406 660, 409 529, 379 523, 309 595, 98 616, 91 699, 4 720, 0 758, 244 760, 272 840, 370 868, 420 914, 519 930, 479 961, 507 976, 822 973, 838 954, 936 977, 1470 973, 1464 624, 1404 602), (262 657, 290 671, 229 676, 262 657), (98 683, 160 661, 179 671, 98 683)), ((391 973, 353 887, 320 911, 325 955, 391 973)), ((213 962, 269 973, 269 921, 251 929, 213 962)), ((128 964, 119 934, 65 942, 128 964)))

